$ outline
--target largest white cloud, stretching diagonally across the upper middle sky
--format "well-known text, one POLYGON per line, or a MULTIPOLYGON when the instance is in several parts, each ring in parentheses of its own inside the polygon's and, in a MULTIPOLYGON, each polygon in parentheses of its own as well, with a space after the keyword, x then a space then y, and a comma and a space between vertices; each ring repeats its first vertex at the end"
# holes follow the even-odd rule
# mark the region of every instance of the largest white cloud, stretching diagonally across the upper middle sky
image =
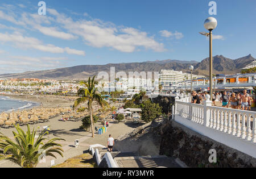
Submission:
POLYGON ((111 22, 102 22, 99 19, 75 22, 55 9, 48 9, 48 12, 56 16, 56 23, 61 24, 69 33, 80 36, 85 44, 93 47, 110 47, 121 52, 134 52, 138 47, 152 49, 156 52, 166 50, 162 43, 158 43, 146 32, 135 28, 117 27, 111 22))

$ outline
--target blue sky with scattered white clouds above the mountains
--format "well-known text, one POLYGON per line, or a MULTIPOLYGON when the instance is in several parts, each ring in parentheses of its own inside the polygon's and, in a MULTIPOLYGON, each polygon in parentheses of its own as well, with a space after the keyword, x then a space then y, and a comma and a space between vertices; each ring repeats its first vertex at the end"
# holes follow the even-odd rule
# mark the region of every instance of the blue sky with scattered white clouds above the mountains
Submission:
POLYGON ((204 20, 213 16, 213 55, 256 57, 256 1, 0 1, 0 74, 209 56, 204 20))

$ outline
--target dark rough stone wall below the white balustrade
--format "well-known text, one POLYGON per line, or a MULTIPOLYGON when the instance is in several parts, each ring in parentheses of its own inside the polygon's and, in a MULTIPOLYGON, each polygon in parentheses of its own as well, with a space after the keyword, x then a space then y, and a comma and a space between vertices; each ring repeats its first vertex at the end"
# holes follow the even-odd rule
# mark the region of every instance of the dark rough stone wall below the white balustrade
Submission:
POLYGON ((171 121, 160 128, 160 155, 179 158, 189 167, 256 167, 256 159, 202 136, 171 121), (217 152, 217 163, 209 163, 210 149, 217 152))

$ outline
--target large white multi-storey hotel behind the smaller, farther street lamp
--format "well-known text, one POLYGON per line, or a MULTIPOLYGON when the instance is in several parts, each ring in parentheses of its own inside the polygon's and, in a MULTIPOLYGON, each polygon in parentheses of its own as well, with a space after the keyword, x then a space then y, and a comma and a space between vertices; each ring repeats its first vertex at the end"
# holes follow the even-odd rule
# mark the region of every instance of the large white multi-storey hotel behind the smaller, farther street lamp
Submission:
MULTIPOLYGON (((170 86, 176 86, 177 82, 181 82, 184 80, 189 80, 191 78, 191 74, 183 73, 175 70, 166 70, 162 69, 160 74, 160 85, 163 85, 163 89, 170 88, 170 86)), ((199 76, 196 74, 192 74, 192 78, 205 78, 204 76, 199 76)))

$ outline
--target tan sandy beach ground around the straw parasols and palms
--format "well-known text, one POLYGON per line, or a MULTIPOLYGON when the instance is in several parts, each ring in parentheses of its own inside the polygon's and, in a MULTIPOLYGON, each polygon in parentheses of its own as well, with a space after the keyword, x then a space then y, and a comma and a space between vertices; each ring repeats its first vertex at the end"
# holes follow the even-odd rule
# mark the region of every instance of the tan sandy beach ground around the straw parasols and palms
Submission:
MULTIPOLYGON (((31 101, 31 102, 37 102, 41 103, 44 108, 48 107, 56 107, 59 105, 59 107, 70 107, 73 105, 74 100, 73 98, 67 98, 67 97, 56 97, 56 96, 50 96, 50 95, 38 95, 38 96, 32 96, 32 95, 8 95, 10 98, 13 99, 19 99, 23 101, 31 101)), ((120 104, 117 103, 116 106, 119 106, 120 104)), ((41 106, 36 106, 36 108, 40 108, 41 106)), ((110 112, 108 112, 110 114, 110 112)), ((134 128, 142 125, 143 123, 134 124, 132 121, 127 120, 124 123, 118 123, 113 122, 112 119, 110 119, 111 115, 108 115, 105 120, 109 121, 109 127, 107 128, 107 131, 103 135, 96 134, 95 138, 92 138, 92 134, 90 132, 86 132, 85 130, 80 130, 81 121, 73 122, 73 121, 60 121, 61 115, 57 115, 55 118, 49 119, 49 122, 46 123, 37 123, 30 125, 31 128, 35 127, 38 128, 38 134, 40 130, 43 130, 44 126, 49 126, 49 134, 46 136, 48 139, 51 138, 63 138, 65 141, 60 141, 59 143, 63 146, 64 149, 64 157, 57 155, 57 159, 54 159, 53 157, 47 157, 46 163, 38 164, 37 167, 50 167, 50 161, 55 160, 55 164, 63 163, 65 160, 82 155, 84 151, 86 151, 89 147, 89 145, 92 144, 102 144, 106 145, 106 142, 108 140, 109 134, 112 134, 113 138, 118 138, 118 136, 123 135, 127 132, 131 132, 134 130, 134 128), (79 147, 74 147, 74 141, 79 140, 79 147)), ((102 127, 101 121, 97 122, 94 126, 102 127)), ((24 131, 27 131, 27 126, 21 127, 24 131)), ((0 128, 0 132, 3 135, 9 136, 11 139, 13 138, 13 131, 15 131, 15 128, 0 128)), ((15 165, 11 163, 10 161, 0 161, 0 168, 5 167, 19 167, 18 165, 15 165)))

